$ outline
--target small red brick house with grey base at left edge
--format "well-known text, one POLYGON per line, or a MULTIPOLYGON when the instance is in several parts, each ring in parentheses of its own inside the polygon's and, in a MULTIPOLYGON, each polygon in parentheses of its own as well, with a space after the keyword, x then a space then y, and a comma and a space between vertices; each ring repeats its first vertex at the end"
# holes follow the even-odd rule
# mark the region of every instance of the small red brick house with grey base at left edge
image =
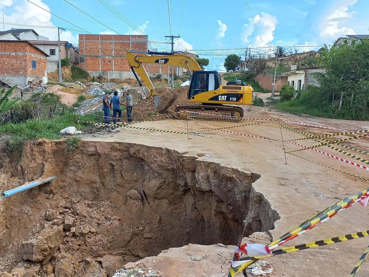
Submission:
POLYGON ((47 57, 30 41, 0 40, 0 81, 21 89, 35 77, 47 83, 47 57))

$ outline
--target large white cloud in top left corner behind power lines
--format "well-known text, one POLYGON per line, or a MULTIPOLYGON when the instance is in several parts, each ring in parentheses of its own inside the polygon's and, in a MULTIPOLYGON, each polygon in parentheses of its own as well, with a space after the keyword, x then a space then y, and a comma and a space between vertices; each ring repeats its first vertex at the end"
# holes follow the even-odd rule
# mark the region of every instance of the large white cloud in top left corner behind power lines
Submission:
MULTIPOLYGON (((12 0, 0 0, 0 3, 10 3, 12 0)), ((36 5, 50 11, 49 6, 42 3, 41 0, 32 0, 36 5)), ((38 25, 38 26, 50 26, 55 27, 51 22, 51 14, 41 8, 35 6, 28 1, 22 1, 18 5, 14 6, 14 12, 11 14, 4 14, 4 21, 9 23, 27 24, 27 25, 38 25)), ((39 35, 46 36, 49 40, 58 39, 57 29, 48 28, 37 28, 37 27, 20 27, 7 25, 6 28, 32 28, 39 35)), ((60 35, 60 39, 63 41, 69 41, 71 43, 78 43, 78 35, 74 36, 70 31, 63 31, 60 35)))

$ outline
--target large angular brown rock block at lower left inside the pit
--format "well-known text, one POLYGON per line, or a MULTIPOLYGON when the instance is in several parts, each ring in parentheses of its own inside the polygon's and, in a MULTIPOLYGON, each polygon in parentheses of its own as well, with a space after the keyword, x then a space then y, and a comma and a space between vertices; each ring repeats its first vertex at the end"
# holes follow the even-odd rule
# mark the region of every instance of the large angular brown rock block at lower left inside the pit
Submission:
POLYGON ((22 259, 40 262, 50 258, 63 242, 63 236, 63 228, 59 227, 48 232, 41 232, 37 238, 21 243, 22 259))

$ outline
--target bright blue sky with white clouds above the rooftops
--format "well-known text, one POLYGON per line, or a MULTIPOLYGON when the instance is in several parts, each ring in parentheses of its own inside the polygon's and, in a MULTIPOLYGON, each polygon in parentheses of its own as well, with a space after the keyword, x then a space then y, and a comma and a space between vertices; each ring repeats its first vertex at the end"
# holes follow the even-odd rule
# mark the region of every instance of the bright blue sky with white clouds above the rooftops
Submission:
MULTIPOLYGON (((234 48, 251 47, 251 54, 270 54, 277 45, 288 49, 298 46, 298 51, 304 52, 319 49, 320 45, 332 45, 345 35, 369 34, 369 0, 299 0, 277 5, 272 0, 248 0, 248 4, 249 8, 246 0, 0 0, 0 11, 4 11, 6 30, 33 28, 40 35, 56 40, 55 27, 66 27, 76 31, 66 29, 61 39, 75 44, 78 34, 86 32, 148 34, 154 42, 168 41, 165 35, 180 35, 175 50, 187 49, 208 58, 206 69, 218 71, 225 71, 223 62, 228 54, 244 59, 245 50, 234 48), (103 4, 115 8, 115 14, 103 4)), ((2 21, 1 13, 0 31, 3 31, 2 21)), ((152 48, 164 51, 170 49, 170 44, 152 43, 152 48)))

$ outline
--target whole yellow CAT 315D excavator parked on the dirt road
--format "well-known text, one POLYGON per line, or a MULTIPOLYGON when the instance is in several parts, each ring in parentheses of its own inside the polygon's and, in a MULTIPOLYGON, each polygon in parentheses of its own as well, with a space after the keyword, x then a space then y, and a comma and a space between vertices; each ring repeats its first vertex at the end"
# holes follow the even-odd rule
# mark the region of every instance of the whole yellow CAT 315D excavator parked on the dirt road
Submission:
MULTIPOLYGON (((244 111, 241 107, 228 106, 227 104, 253 104, 252 99, 254 98, 254 90, 251 85, 246 85, 239 80, 222 85, 220 73, 218 73, 218 71, 202 70, 196 60, 183 53, 149 51, 148 54, 149 56, 137 56, 132 52, 127 52, 126 57, 138 84, 150 101, 154 101, 155 98, 160 101, 160 98, 156 96, 154 85, 142 63, 179 66, 189 71, 191 79, 187 99, 189 99, 189 102, 199 103, 199 105, 189 104, 177 106, 175 112, 189 111, 206 113, 208 114, 207 117, 232 116, 235 118, 242 118, 244 116, 244 111), (145 89, 142 87, 142 83, 138 76, 148 88, 148 93, 146 93, 145 89)), ((171 104, 172 103, 170 103, 170 105, 171 104)), ((168 105, 164 106, 169 108, 168 105)), ((186 113, 177 113, 175 116, 177 119, 187 118, 186 113)))

